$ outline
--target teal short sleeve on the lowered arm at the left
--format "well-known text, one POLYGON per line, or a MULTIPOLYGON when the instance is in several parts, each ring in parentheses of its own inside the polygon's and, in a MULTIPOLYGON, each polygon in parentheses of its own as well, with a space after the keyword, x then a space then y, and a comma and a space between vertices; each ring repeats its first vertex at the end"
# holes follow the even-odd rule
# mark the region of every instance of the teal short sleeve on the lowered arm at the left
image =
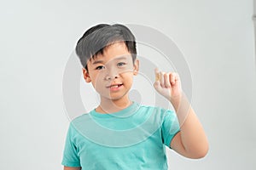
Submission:
POLYGON ((78 148, 73 142, 75 133, 76 130, 74 129, 73 125, 70 124, 67 131, 65 148, 63 151, 63 158, 61 161, 61 164, 66 167, 81 167, 78 156, 78 148))

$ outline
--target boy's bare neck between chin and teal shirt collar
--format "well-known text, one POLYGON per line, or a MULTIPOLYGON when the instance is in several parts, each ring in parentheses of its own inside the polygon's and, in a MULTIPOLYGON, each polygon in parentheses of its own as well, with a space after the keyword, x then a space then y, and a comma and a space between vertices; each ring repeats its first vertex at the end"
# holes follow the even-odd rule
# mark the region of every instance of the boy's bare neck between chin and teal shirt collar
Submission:
POLYGON ((124 110, 132 104, 129 98, 125 99, 101 99, 101 104, 98 105, 96 111, 99 113, 114 113, 124 110))

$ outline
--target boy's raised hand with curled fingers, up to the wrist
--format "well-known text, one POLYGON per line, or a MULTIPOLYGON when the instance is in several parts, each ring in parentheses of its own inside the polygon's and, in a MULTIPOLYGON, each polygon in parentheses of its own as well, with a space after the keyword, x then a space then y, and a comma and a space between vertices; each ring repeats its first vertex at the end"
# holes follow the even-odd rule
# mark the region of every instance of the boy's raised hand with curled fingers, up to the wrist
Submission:
POLYGON ((182 96, 181 82, 176 72, 155 72, 154 88, 169 101, 178 101, 182 96))

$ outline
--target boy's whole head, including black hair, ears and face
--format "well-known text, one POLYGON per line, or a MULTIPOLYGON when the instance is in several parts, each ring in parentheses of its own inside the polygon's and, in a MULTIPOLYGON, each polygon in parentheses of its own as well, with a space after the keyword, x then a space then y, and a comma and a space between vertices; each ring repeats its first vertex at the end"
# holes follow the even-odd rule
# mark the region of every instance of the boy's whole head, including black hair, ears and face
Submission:
POLYGON ((85 31, 76 47, 84 80, 91 82, 102 99, 127 99, 137 75, 135 37, 122 25, 101 24, 85 31))

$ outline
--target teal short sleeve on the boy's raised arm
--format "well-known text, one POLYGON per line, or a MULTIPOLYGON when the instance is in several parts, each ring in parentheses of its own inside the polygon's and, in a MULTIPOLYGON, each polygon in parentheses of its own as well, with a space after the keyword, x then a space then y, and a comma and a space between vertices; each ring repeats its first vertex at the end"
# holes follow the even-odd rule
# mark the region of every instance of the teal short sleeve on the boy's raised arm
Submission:
POLYGON ((163 143, 170 148, 173 137, 180 131, 177 115, 174 111, 165 111, 162 123, 162 139, 163 143))

